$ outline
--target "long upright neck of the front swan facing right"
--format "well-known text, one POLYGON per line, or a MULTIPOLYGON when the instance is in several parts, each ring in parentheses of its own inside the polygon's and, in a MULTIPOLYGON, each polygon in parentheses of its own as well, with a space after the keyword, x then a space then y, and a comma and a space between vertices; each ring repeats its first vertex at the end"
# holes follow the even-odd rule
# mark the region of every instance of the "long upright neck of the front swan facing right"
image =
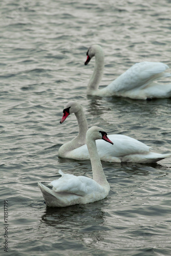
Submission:
POLYGON ((100 157, 97 152, 96 142, 95 140, 87 140, 87 147, 89 150, 92 172, 93 172, 93 180, 95 180, 100 185, 109 186, 108 181, 105 178, 103 168, 101 165, 100 157))

